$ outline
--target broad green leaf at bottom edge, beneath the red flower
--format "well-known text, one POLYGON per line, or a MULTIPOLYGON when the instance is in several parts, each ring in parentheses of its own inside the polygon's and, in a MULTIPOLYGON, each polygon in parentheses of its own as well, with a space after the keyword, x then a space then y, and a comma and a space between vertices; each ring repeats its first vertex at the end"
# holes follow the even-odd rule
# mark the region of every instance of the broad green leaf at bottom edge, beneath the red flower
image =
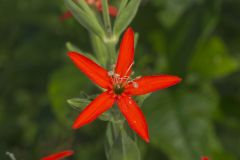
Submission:
POLYGON ((136 142, 126 133, 125 129, 108 124, 105 150, 108 160, 141 160, 140 152, 136 142))

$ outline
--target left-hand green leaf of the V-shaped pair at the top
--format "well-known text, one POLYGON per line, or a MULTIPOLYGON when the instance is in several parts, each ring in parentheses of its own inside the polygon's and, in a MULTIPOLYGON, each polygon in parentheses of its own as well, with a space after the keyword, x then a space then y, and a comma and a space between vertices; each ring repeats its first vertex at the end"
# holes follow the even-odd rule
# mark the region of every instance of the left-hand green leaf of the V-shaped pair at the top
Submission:
POLYGON ((68 9, 72 12, 76 20, 84 26, 89 32, 98 35, 99 37, 105 37, 104 30, 97 18, 93 14, 85 12, 79 8, 72 0, 64 0, 68 9))

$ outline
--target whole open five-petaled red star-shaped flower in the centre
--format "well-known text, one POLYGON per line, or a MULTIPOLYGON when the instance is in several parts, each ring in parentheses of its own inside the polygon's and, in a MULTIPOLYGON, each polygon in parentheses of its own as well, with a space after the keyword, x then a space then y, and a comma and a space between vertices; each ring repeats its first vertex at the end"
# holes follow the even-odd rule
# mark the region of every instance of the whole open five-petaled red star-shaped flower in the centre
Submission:
POLYGON ((106 89, 81 112, 73 124, 73 128, 77 129, 92 122, 116 102, 130 127, 146 142, 149 142, 145 117, 132 96, 170 87, 179 83, 181 78, 155 75, 131 79, 134 63, 134 32, 131 28, 127 29, 123 36, 117 64, 112 71, 105 70, 79 53, 69 52, 68 55, 90 80, 106 89))

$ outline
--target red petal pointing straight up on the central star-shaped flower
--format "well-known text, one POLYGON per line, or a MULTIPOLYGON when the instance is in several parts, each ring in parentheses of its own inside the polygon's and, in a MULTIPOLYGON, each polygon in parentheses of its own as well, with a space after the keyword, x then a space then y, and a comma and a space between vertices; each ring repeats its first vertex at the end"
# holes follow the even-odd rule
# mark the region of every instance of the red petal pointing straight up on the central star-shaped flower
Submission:
POLYGON ((134 60, 134 32, 128 28, 123 35, 118 54, 115 72, 121 77, 131 73, 131 66, 134 60))

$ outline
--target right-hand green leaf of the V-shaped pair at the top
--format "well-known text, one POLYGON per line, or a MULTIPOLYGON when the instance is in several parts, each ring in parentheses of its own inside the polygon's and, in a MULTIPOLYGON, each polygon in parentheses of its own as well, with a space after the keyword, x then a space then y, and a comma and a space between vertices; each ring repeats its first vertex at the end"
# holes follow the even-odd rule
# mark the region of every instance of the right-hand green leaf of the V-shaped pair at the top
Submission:
MULTIPOLYGON (((124 2, 125 3, 125 2, 124 2)), ((116 17, 113 32, 120 36, 137 14, 141 0, 131 0, 116 17)))

